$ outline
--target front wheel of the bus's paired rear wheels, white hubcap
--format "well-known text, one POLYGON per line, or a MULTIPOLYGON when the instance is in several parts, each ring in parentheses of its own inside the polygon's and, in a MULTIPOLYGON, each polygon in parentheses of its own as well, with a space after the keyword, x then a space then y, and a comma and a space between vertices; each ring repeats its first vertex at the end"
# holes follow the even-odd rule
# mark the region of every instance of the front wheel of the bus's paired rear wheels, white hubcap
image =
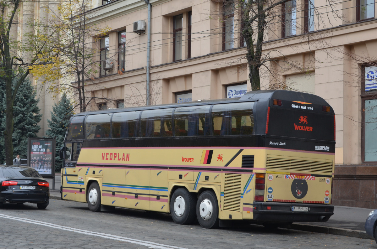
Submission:
POLYGON ((188 225, 195 220, 196 198, 185 188, 174 191, 170 201, 170 213, 176 224, 188 225))

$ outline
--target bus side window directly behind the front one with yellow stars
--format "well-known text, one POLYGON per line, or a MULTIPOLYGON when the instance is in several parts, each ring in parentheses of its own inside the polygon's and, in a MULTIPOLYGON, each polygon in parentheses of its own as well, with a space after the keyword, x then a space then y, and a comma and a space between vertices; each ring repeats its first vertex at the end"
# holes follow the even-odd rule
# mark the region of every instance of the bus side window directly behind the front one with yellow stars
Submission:
POLYGON ((111 114, 88 115, 85 120, 86 138, 109 138, 111 114))

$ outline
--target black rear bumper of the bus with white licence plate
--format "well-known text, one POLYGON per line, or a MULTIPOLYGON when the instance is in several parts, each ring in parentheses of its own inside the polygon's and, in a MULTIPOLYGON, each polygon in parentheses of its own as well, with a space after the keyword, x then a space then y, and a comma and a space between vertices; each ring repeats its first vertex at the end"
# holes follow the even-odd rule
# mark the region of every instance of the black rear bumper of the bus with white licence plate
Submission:
POLYGON ((261 222, 326 222, 333 214, 334 205, 328 204, 253 202, 253 220, 261 222), (308 211, 292 211, 293 206, 308 211))

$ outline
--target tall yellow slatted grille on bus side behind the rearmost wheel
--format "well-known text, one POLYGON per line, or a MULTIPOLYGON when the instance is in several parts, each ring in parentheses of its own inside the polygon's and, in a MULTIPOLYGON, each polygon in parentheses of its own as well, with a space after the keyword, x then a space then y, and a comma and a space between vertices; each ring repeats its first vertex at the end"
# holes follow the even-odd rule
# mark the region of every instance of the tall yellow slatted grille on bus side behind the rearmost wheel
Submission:
POLYGON ((223 210, 241 211, 241 174, 225 173, 223 210))

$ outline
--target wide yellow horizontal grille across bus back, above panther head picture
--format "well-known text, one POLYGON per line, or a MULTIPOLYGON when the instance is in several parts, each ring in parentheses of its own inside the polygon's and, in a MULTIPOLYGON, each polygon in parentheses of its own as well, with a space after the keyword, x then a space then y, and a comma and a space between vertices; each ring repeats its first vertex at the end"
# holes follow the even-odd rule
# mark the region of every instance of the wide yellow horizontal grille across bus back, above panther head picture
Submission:
POLYGON ((292 158, 288 156, 267 155, 267 170, 287 172, 333 173, 333 160, 317 160, 312 158, 292 158), (316 160, 316 161, 314 161, 316 160))

